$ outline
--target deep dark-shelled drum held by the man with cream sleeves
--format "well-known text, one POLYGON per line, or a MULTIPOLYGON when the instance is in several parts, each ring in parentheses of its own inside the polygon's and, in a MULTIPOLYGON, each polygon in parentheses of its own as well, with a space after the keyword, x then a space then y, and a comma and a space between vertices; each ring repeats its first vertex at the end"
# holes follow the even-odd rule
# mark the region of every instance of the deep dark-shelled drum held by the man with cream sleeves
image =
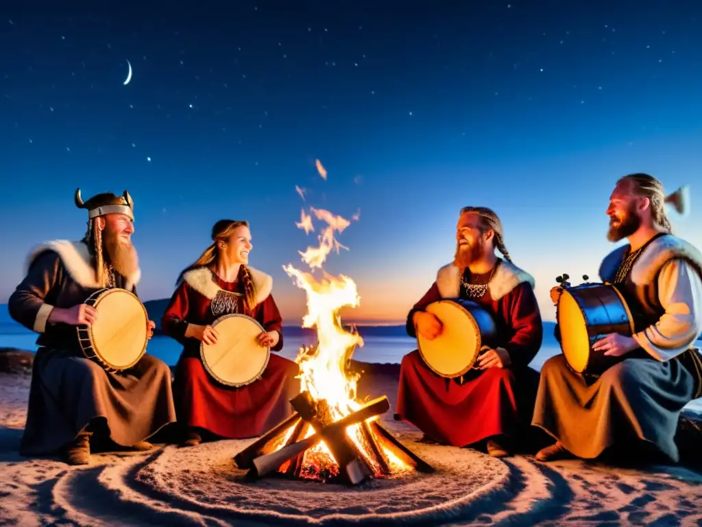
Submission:
POLYGON ((566 362, 578 374, 601 375, 621 362, 623 357, 605 356, 592 344, 606 334, 619 333, 630 337, 634 332, 629 307, 614 285, 582 284, 567 287, 556 308, 561 334, 561 351, 566 362))

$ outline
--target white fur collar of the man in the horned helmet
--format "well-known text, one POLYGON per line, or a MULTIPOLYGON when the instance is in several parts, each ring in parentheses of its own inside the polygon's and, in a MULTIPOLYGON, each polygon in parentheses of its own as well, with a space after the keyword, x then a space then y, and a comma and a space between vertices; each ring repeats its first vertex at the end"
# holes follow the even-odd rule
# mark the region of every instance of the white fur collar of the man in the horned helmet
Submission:
MULTIPOLYGON (((103 286, 95 280, 95 268, 93 267, 91 255, 88 252, 88 246, 83 242, 72 242, 69 240, 53 240, 44 242, 34 247, 29 253, 25 263, 25 274, 29 272, 29 266, 37 259, 39 254, 53 251, 57 253, 63 266, 71 275, 71 278, 78 282, 85 289, 100 289, 103 286)), ((126 287, 128 291, 139 283, 141 279, 141 270, 137 269, 131 276, 125 277, 127 280, 126 287)))

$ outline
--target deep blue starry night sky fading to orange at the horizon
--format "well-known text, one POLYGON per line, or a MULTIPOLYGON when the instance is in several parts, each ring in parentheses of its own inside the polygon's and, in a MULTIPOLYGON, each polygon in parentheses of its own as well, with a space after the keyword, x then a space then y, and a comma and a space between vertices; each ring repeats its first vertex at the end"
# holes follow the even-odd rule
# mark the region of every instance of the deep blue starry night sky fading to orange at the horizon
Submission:
POLYGON ((249 220, 286 324, 302 207, 360 211, 325 268, 357 282, 347 320, 392 322, 451 261, 458 210, 489 206, 553 320, 555 276, 613 248, 619 176, 689 183, 671 218, 702 247, 700 93, 693 0, 3 1, 0 302, 33 245, 81 238, 80 187, 133 196, 145 300, 215 221, 249 220))

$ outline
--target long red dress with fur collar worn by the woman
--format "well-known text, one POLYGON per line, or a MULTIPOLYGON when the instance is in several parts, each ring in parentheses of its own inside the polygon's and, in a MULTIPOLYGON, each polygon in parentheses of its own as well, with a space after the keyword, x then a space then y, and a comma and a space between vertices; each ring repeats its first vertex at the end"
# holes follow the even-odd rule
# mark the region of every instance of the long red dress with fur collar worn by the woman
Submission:
MULTIPOLYGON (((256 285, 258 304, 249 311, 243 297, 237 297, 237 306, 230 306, 227 311, 249 315, 266 331, 279 332, 280 339, 272 351, 280 351, 283 348, 282 318, 270 294, 272 280, 253 268, 249 271, 256 285)), ((225 438, 260 436, 291 415, 289 401, 300 393, 300 382, 295 378, 299 373, 298 365, 272 354, 262 377, 248 386, 234 388, 213 379, 202 364, 200 341, 186 338, 185 329, 188 323, 211 325, 226 314, 213 313, 212 300, 218 293, 222 295, 220 290, 243 292, 243 287, 238 281, 221 280, 206 268, 188 271, 162 319, 164 332, 183 344, 173 382, 178 422, 225 438)))

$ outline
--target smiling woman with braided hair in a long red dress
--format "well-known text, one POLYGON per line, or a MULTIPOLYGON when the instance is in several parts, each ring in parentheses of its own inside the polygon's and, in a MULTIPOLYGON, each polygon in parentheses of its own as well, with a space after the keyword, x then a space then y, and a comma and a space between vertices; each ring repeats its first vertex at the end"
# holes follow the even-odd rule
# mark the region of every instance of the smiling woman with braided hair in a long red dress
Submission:
POLYGON ((289 400, 300 391, 298 365, 272 354, 263 376, 248 386, 217 384, 200 358, 200 342, 218 339, 211 324, 229 313, 244 313, 265 328, 261 346, 283 348, 282 318, 272 297, 273 280, 249 267, 251 232, 246 221, 220 220, 212 228, 212 244, 180 274, 166 308, 162 327, 183 344, 176 366, 173 396, 183 444, 214 438, 259 436, 291 415, 289 400))

